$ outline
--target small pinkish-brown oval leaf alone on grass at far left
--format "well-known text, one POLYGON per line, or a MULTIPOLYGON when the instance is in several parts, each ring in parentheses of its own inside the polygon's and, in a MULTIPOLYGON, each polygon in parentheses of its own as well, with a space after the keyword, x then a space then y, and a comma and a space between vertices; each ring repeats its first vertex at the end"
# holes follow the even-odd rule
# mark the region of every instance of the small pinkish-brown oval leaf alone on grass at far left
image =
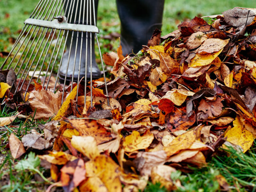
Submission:
POLYGON ((9 145, 14 159, 18 159, 26 152, 22 142, 13 133, 9 137, 9 145))

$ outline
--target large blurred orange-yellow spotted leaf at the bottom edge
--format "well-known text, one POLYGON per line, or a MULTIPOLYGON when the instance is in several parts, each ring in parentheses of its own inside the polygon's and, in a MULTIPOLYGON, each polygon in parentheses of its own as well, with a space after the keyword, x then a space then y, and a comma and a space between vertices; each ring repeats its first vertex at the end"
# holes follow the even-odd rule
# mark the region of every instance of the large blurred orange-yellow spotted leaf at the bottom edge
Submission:
POLYGON ((108 191, 122 191, 119 166, 110 157, 97 156, 94 160, 85 163, 85 169, 86 177, 93 179, 97 176, 100 179, 97 179, 98 182, 93 182, 94 185, 87 186, 87 191, 97 191, 95 189, 100 186, 105 186, 108 191))

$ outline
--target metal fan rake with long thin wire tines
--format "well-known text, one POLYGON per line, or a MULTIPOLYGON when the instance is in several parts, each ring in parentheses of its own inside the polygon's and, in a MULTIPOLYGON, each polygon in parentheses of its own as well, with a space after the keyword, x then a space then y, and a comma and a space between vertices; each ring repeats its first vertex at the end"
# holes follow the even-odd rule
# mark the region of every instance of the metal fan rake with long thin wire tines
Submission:
MULTIPOLYGON (((25 91, 24 100, 26 93, 28 92, 29 85, 38 73, 36 82, 38 83, 40 76, 44 76, 42 86, 45 86, 47 90, 51 76, 53 75, 54 68, 58 68, 57 77, 55 80, 53 92, 56 91, 57 81, 60 75, 60 67, 62 65, 63 55, 67 44, 67 38, 71 34, 71 45, 73 41, 76 41, 75 46, 75 57, 74 60, 70 59, 70 53, 72 46, 70 46, 67 70, 64 77, 64 87, 62 92, 61 104, 63 103, 63 96, 65 90, 65 84, 68 82, 67 73, 68 65, 73 64, 73 76, 71 79, 71 91, 74 80, 74 72, 76 60, 79 60, 79 72, 77 78, 77 86, 81 80, 80 70, 82 61, 82 45, 85 44, 85 74, 84 74, 84 95, 86 95, 86 82, 87 80, 87 60, 90 60, 90 87, 91 87, 91 107, 92 107, 92 44, 94 43, 94 37, 96 37, 97 45, 100 52, 100 45, 97 37, 99 29, 96 27, 95 18, 95 4, 94 0, 40 0, 35 10, 32 12, 30 17, 25 20, 25 26, 21 30, 15 44, 13 45, 10 53, 5 59, 1 66, 1 70, 10 69, 16 73, 17 84, 13 82, 12 88, 15 89, 14 94, 22 90, 25 80, 31 76, 28 81, 28 85, 25 91), (79 15, 77 12, 79 11, 79 15), (73 14, 75 12, 75 15, 73 14), (85 15, 86 12, 86 15, 85 15), (78 19, 78 24, 76 20, 78 19), (94 35, 95 34, 95 35, 94 35), (54 38, 56 37, 57 38, 54 38), (76 36, 76 39, 75 37, 76 36), (64 38, 65 37, 65 38, 64 38), (92 38, 93 37, 93 38, 92 38), (85 41, 83 40, 85 38, 85 41), (65 40, 64 40, 65 39, 65 40), (81 39, 81 42, 78 42, 81 39), (52 44, 54 44, 52 46, 52 44), (90 47, 90 55, 88 58, 88 48, 90 47), (79 49, 80 47, 80 49, 79 49), (78 53, 78 54, 77 54, 78 53), (76 55, 80 55, 79 58, 76 55), (72 63, 73 62, 73 63, 72 63), (58 66, 58 63, 59 66, 58 66), (46 71, 43 72, 43 68, 46 71), (39 70, 39 72, 38 72, 39 70), (49 77, 46 82, 46 77, 49 77), (23 79, 23 81, 22 81, 23 79), (14 88, 13 88, 14 87, 14 88)), ((104 83, 106 88, 106 94, 108 95, 106 76, 100 52, 100 60, 103 70, 104 83)), ((69 80, 70 81, 70 80, 69 80)), ((78 98, 78 87, 76 92, 76 101, 78 98)), ((77 103, 77 102, 76 102, 77 103)), ((84 96, 84 105, 86 103, 86 96, 84 96)), ((77 105, 77 104, 76 104, 77 105)), ((109 101, 108 101, 109 105, 109 101)), ((76 106, 77 107, 77 106, 76 106)))

